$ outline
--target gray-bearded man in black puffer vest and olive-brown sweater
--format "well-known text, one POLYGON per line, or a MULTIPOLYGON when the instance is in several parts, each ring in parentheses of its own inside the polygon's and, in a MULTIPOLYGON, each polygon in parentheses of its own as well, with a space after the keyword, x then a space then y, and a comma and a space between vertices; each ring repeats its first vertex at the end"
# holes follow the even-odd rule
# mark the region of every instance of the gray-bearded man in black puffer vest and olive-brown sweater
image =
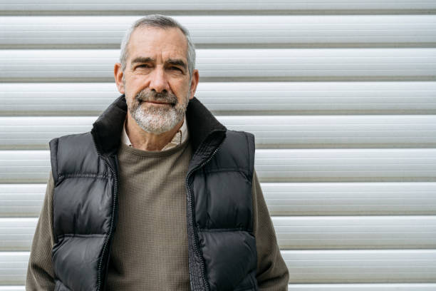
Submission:
POLYGON ((90 133, 50 142, 26 290, 287 290, 254 136, 194 97, 194 62, 170 17, 126 33, 123 95, 90 133))

